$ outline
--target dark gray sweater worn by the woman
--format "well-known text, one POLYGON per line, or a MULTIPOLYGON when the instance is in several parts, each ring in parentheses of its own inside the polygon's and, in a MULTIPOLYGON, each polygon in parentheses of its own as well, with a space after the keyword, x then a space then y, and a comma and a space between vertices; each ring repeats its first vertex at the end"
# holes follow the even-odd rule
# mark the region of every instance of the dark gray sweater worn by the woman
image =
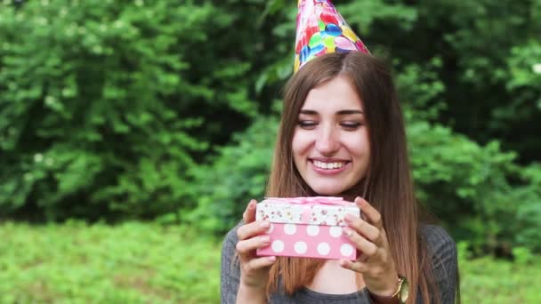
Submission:
MULTIPOLYGON (((237 298, 240 268, 238 262, 231 265, 235 255, 235 246, 238 242, 237 228, 238 226, 231 229, 223 242, 221 275, 222 304, 234 304, 237 298)), ((439 226, 425 225, 422 227, 422 233, 432 253, 432 267, 438 284, 441 303, 454 303, 458 270, 456 244, 445 229, 439 226)), ((348 294, 326 294, 303 288, 295 292, 292 297, 288 297, 284 292, 273 293, 271 294, 270 302, 273 304, 371 303, 366 288, 361 289, 359 292, 348 294)), ((417 294, 416 302, 423 303, 420 293, 417 294)))

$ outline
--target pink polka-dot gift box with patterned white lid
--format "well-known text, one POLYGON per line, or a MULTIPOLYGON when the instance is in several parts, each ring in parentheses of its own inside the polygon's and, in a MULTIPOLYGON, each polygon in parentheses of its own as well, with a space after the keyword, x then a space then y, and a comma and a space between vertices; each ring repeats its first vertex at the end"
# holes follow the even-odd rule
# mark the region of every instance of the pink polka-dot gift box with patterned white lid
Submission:
POLYGON ((256 206, 256 220, 269 220, 271 243, 258 256, 356 260, 358 252, 343 234, 343 217, 360 216, 359 208, 342 197, 268 197, 256 206))

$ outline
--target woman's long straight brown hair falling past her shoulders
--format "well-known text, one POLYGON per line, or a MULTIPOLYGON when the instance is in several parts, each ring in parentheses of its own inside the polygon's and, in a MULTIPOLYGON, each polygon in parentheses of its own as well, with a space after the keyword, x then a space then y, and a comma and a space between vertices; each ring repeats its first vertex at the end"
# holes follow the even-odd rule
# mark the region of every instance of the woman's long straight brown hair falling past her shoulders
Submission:
MULTIPOLYGON (((367 176, 343 196, 348 200, 363 196, 381 213, 397 271, 410 283, 408 302, 413 303, 421 292, 424 303, 429 303, 438 292, 434 292, 432 263, 419 231, 402 113, 391 73, 381 60, 360 52, 329 53, 311 60, 289 79, 266 195, 317 195, 296 170, 291 145, 308 93, 339 75, 351 80, 363 102, 370 141, 367 176)), ((277 290, 281 276, 285 291, 292 295, 311 283, 323 263, 279 258, 271 268, 267 291, 277 290)))

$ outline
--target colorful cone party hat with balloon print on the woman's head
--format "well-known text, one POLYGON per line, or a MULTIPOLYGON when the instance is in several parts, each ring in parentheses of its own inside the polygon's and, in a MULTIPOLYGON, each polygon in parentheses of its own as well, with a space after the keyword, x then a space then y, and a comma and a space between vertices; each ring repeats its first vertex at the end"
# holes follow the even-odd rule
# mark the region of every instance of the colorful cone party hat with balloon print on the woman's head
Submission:
POLYGON ((299 0, 298 7, 295 72, 327 52, 369 53, 330 0, 299 0))

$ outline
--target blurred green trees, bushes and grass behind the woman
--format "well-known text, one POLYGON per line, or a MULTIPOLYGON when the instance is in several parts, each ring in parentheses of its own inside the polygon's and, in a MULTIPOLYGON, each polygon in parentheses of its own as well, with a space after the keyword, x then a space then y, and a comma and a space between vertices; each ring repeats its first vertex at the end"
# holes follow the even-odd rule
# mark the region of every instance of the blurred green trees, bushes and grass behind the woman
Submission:
MULTIPOLYGON (((393 68, 464 303, 541 302, 541 0, 335 0, 393 68)), ((296 0, 0 0, 0 303, 216 303, 296 0)))

